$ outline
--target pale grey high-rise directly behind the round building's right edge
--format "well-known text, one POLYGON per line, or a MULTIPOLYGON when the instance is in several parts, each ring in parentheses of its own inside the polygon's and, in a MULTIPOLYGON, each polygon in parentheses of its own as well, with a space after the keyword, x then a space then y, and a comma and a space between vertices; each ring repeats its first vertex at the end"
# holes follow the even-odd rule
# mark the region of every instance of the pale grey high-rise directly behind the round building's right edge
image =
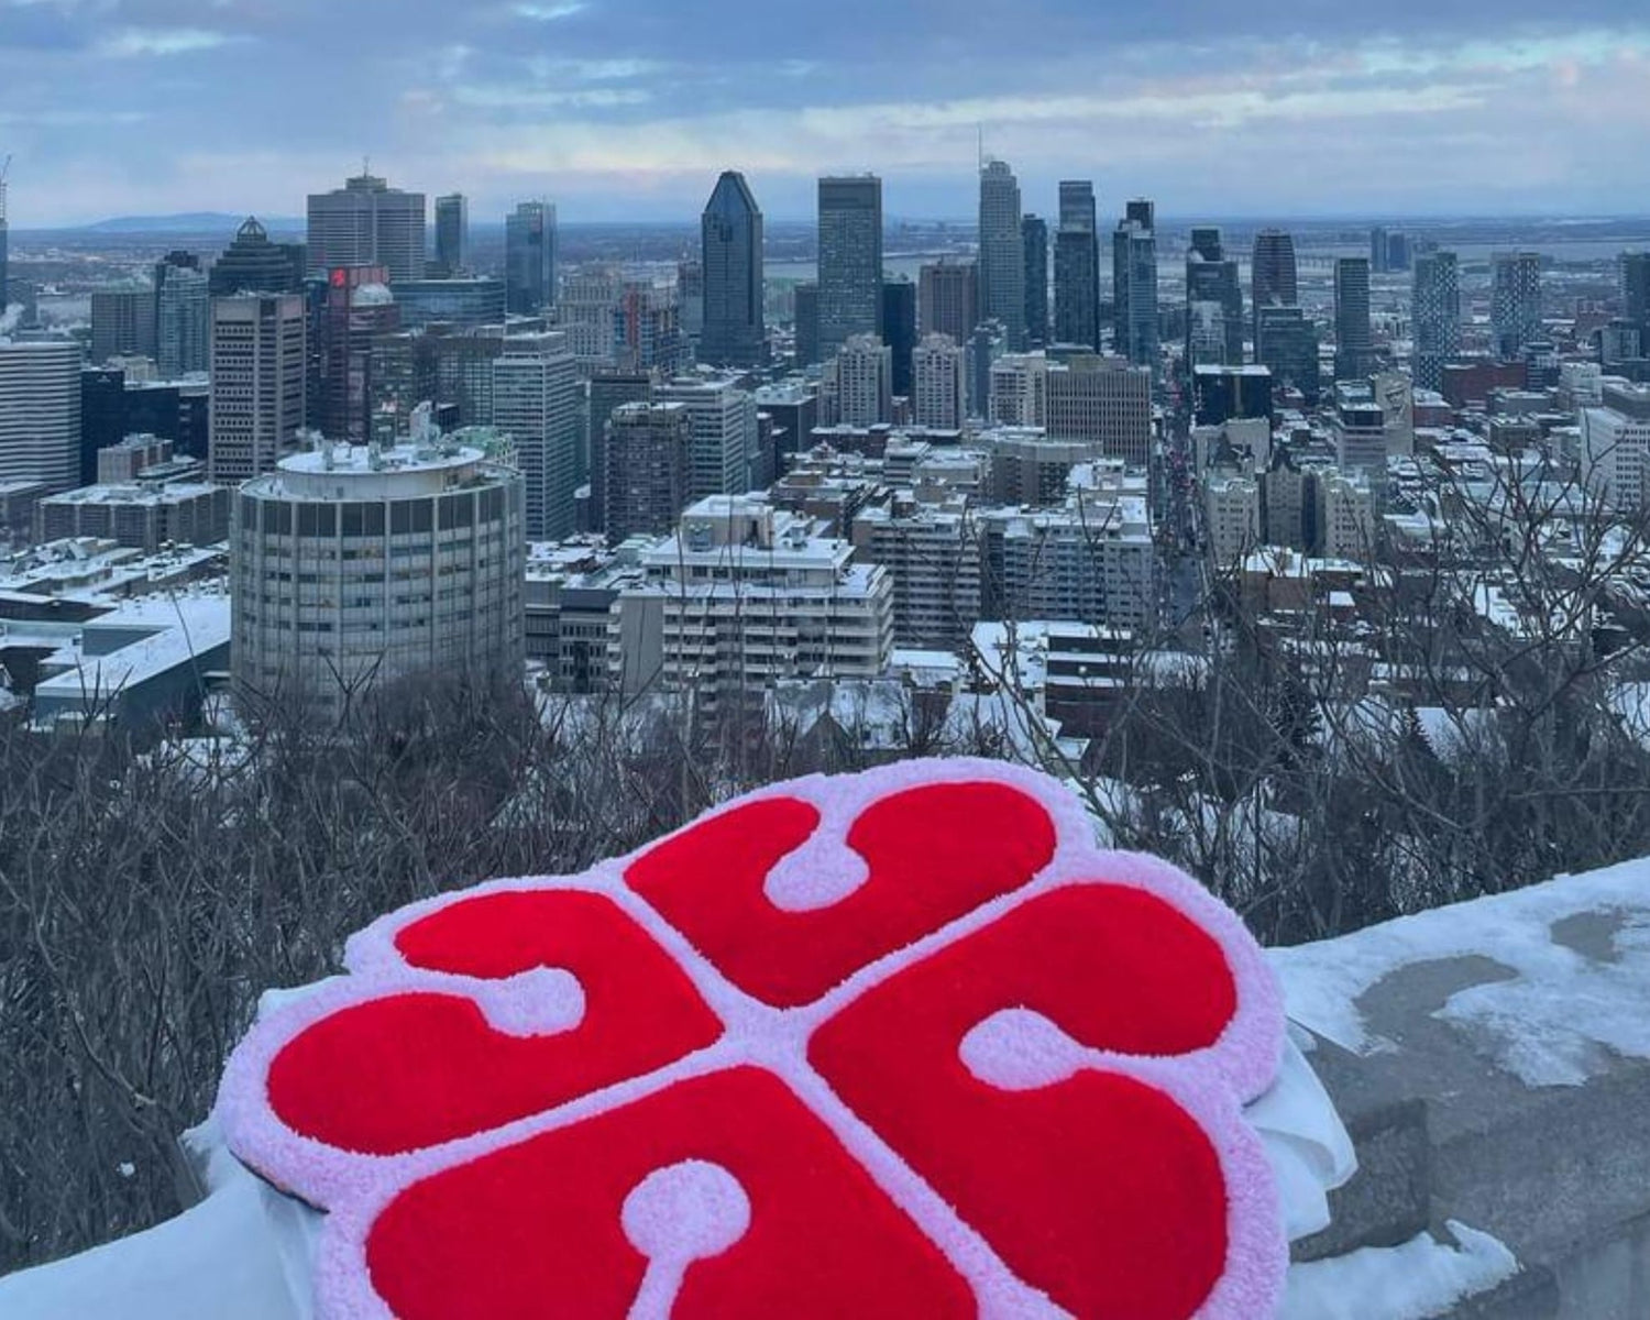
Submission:
POLYGON ((493 427, 515 444, 530 540, 556 541, 576 528, 581 403, 566 335, 505 340, 493 361, 493 427))

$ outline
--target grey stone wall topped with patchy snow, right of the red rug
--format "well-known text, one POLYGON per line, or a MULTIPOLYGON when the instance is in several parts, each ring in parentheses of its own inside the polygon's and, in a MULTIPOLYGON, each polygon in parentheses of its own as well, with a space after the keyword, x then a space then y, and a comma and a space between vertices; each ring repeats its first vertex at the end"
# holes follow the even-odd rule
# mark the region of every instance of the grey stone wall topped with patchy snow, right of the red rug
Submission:
POLYGON ((1459 1313, 1650 1317, 1650 861, 1272 959, 1361 1165, 1297 1259, 1460 1221, 1521 1269, 1459 1313))

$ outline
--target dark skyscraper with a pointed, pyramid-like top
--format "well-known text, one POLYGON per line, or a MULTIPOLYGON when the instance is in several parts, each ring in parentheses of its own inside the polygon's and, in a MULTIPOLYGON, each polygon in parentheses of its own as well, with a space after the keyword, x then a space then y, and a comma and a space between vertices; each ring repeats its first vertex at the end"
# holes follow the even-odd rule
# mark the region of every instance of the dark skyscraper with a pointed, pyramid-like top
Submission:
MULTIPOLYGON (((757 366, 767 358, 762 315, 762 210, 738 170, 723 170, 700 216, 705 325, 700 361, 757 366)), ((680 510, 678 510, 680 512, 680 510)))

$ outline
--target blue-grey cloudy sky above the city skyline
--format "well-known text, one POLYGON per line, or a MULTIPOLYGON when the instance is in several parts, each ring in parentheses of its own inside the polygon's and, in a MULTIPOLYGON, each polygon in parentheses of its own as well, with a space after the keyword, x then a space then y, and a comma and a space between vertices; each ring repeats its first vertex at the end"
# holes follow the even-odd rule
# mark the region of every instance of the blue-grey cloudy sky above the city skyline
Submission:
POLYGON ((964 216, 975 132, 1026 210, 1650 211, 1645 0, 0 0, 16 228, 300 214, 375 173, 472 214, 772 218, 871 168, 964 216), (1561 16, 1563 21, 1556 21, 1561 16))

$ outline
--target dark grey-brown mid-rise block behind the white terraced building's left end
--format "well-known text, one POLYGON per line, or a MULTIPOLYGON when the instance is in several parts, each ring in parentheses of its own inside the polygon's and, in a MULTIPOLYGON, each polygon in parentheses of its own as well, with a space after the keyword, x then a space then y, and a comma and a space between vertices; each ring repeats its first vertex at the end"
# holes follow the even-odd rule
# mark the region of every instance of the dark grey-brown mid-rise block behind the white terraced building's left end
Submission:
POLYGON ((680 403, 625 403, 602 441, 602 530, 610 541, 665 536, 688 503, 693 417, 680 403))

